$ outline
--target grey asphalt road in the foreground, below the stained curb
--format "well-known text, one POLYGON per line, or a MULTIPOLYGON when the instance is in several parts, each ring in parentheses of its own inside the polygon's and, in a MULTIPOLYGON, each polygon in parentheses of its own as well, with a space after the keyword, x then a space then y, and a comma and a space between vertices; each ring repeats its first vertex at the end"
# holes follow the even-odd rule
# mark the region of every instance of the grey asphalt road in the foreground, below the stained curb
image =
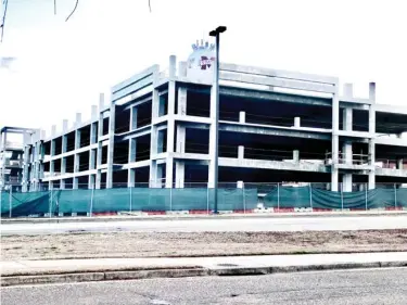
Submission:
POLYGON ((2 305, 407 304, 407 268, 13 287, 2 305))

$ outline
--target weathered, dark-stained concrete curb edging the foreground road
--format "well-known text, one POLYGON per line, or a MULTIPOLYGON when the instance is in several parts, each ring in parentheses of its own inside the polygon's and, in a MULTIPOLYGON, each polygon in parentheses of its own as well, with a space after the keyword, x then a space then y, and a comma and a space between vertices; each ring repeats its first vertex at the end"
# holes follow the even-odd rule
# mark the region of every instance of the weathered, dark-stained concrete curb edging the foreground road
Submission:
POLYGON ((46 283, 73 283, 111 280, 140 280, 153 278, 183 278, 183 277, 228 277, 228 276, 262 276, 270 274, 288 274, 318 270, 340 269, 367 269, 407 267, 407 260, 399 262, 373 262, 373 263, 339 263, 325 265, 304 266, 271 266, 271 267, 239 267, 227 268, 187 268, 187 269, 151 269, 151 270, 119 270, 119 271, 94 271, 94 272, 71 272, 60 275, 37 276, 5 276, 1 278, 1 287, 31 285, 46 283))

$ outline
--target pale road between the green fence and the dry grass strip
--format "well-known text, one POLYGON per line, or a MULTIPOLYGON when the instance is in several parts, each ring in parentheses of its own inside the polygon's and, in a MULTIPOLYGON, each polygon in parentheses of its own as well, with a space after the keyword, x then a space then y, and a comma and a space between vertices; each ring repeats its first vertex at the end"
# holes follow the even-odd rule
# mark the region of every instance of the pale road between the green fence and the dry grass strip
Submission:
POLYGON ((48 234, 71 231, 138 231, 138 232, 236 232, 236 231, 306 231, 306 230, 369 230, 405 229, 407 215, 357 217, 292 217, 292 218, 236 218, 236 219, 174 219, 127 220, 110 223, 50 223, 2 224, 3 236, 48 234))

